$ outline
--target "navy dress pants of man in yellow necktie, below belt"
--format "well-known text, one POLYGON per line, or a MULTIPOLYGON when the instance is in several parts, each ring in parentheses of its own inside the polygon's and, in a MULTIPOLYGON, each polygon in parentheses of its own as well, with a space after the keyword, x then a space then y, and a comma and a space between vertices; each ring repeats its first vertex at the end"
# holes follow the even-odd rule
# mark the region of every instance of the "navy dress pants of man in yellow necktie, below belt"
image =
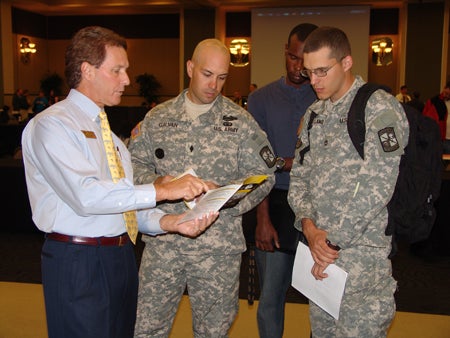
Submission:
POLYGON ((47 239, 42 282, 49 338, 133 337, 138 273, 130 241, 89 246, 47 239))

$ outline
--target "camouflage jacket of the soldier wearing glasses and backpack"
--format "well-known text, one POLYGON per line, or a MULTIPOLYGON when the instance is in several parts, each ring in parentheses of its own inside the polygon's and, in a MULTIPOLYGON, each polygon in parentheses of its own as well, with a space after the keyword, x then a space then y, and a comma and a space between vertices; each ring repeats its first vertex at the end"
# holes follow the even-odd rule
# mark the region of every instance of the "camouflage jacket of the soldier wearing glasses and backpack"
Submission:
MULTIPOLYGON (((319 100, 308 108, 288 195, 296 214, 296 228, 301 229, 302 218, 310 218, 318 228, 327 231, 328 239, 342 248, 336 264, 347 271, 355 271, 359 259, 386 258, 390 252, 391 238, 384 234, 386 205, 394 191, 400 156, 409 134, 399 102, 378 90, 366 106, 365 159, 359 157, 348 134, 347 113, 363 84, 357 76, 338 101, 319 100), (308 141, 307 124, 312 111, 318 115, 308 141), (387 142, 385 136, 389 136, 387 142), (300 165, 298 152, 308 144, 310 151, 300 165), (373 258, 362 258, 365 252, 373 258)), ((390 263, 383 264, 383 269, 389 269, 390 263)))

